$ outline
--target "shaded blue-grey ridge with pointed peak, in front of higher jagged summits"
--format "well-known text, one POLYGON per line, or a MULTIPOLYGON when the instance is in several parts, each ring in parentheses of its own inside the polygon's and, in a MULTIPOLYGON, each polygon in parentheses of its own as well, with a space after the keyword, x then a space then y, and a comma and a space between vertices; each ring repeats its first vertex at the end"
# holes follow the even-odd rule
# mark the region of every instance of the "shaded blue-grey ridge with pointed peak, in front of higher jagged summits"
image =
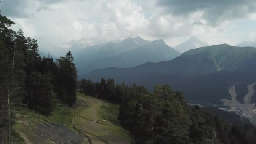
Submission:
POLYGON ((163 40, 155 40, 131 51, 93 61, 87 68, 135 67, 148 61, 168 61, 179 55, 178 51, 166 45, 163 40))

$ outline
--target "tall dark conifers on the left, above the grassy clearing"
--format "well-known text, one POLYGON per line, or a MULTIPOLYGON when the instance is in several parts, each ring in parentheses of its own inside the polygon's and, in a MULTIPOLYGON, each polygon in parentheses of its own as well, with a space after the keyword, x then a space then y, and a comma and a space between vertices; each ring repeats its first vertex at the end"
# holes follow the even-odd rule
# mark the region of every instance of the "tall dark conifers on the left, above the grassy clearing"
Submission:
POLYGON ((69 51, 54 62, 38 54, 37 40, 22 30, 11 30, 13 21, 0 14, 0 141, 11 143, 14 109, 27 106, 51 115, 53 104, 72 106, 76 101, 77 70, 69 51))

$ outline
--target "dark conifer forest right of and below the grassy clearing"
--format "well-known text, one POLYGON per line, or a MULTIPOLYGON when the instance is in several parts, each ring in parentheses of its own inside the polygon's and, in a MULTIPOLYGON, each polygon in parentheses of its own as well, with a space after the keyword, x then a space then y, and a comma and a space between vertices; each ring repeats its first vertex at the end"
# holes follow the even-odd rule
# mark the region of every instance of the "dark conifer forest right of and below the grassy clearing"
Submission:
POLYGON ((255 144, 256 128, 211 115, 199 106, 189 106, 181 91, 155 85, 143 86, 82 79, 79 91, 120 104, 118 119, 130 131, 136 144, 255 144))

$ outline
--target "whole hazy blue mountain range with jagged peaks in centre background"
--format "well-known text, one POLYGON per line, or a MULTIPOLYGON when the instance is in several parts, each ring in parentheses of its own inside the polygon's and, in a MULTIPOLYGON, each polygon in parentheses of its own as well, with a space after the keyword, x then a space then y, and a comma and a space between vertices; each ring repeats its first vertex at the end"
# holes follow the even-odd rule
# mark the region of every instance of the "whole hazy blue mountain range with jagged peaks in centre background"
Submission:
POLYGON ((147 41, 141 37, 89 46, 74 54, 80 75, 94 69, 135 67, 148 61, 167 61, 179 55, 179 51, 169 47, 161 39, 147 41))

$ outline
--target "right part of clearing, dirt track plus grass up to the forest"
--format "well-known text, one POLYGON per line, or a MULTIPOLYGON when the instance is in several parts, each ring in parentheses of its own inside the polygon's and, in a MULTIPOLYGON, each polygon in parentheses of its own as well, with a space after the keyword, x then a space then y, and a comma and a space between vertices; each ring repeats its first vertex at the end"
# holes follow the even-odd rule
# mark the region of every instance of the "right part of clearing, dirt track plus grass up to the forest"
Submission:
POLYGON ((120 127, 117 120, 118 105, 89 96, 84 96, 84 99, 88 102, 88 108, 75 117, 75 128, 87 134, 92 143, 131 143, 128 132, 120 127))

